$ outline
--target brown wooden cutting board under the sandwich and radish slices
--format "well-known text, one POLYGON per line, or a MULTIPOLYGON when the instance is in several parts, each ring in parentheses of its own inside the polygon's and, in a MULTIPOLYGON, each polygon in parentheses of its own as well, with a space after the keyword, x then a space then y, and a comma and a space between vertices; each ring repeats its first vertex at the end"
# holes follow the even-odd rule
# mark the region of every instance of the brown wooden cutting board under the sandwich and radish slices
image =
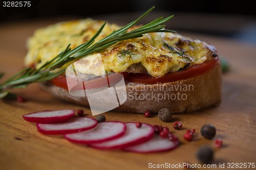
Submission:
MULTIPOLYGON (((17 22, 0 27, 0 70, 8 78, 23 67, 27 53, 26 39, 39 27, 69 18, 17 22)), ((71 143, 62 136, 42 135, 34 123, 23 120, 22 115, 46 109, 84 109, 55 99, 42 91, 37 84, 13 92, 24 96, 25 103, 0 100, 0 167, 1 169, 149 169, 153 164, 199 164, 196 152, 202 145, 214 148, 212 164, 256 163, 256 46, 221 37, 182 33, 204 39, 215 45, 222 57, 228 60, 231 70, 223 75, 222 102, 218 107, 193 113, 175 114, 173 122, 183 123, 180 131, 172 123, 160 122, 157 115, 145 118, 134 113, 105 113, 107 120, 142 122, 167 126, 180 139, 181 144, 173 151, 155 154, 136 154, 116 150, 97 150, 71 143), (223 140, 223 147, 216 149, 214 140, 204 139, 200 129, 204 124, 214 124, 216 138, 223 140), (195 138, 183 139, 186 129, 196 129, 195 138)), ((248 166, 249 164, 247 164, 248 166)), ((234 166, 236 167, 236 166, 234 166)), ((159 168, 160 169, 160 168, 159 168)), ((172 169, 172 168, 170 168, 172 169)), ((182 169, 182 168, 177 168, 182 169)), ((199 169, 199 168, 197 168, 199 169)), ((253 168, 252 168, 253 169, 253 168)))

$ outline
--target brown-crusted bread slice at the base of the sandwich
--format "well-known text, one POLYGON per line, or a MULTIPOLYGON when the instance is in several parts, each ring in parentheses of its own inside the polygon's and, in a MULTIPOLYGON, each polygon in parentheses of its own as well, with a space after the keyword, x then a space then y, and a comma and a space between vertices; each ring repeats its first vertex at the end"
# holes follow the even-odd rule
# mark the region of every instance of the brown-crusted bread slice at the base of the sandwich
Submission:
MULTIPOLYGON (((173 113, 184 113, 216 106, 221 102, 221 75, 218 62, 210 70, 186 80, 150 85, 126 82, 127 100, 112 111, 158 113, 167 108, 173 113)), ((66 89, 49 83, 41 83, 40 87, 58 99, 90 107, 87 97, 72 96, 66 89)))

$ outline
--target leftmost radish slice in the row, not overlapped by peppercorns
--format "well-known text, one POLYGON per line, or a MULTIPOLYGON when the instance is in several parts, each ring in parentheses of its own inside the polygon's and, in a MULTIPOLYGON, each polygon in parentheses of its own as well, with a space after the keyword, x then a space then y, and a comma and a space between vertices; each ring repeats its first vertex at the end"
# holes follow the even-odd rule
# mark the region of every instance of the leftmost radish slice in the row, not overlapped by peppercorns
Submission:
POLYGON ((28 122, 40 123, 40 124, 56 124, 66 122, 71 119, 75 110, 43 110, 23 115, 23 119, 28 122))

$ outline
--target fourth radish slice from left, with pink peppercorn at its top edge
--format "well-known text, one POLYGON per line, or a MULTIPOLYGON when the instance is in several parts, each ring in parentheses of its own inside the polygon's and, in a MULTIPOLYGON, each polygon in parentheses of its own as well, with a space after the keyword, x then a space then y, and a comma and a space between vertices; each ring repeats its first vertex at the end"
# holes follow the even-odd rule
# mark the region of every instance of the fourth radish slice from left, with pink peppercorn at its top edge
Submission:
POLYGON ((141 128, 136 127, 136 123, 125 123, 125 134, 115 140, 102 143, 95 143, 91 146, 98 149, 123 149, 132 145, 143 143, 154 136, 154 127, 142 124, 141 128))

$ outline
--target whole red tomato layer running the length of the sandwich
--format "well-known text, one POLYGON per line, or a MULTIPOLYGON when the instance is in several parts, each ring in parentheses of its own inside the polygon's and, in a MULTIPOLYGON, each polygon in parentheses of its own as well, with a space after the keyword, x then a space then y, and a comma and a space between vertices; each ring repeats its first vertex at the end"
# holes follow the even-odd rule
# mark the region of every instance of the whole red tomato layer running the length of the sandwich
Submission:
MULTIPOLYGON (((120 72, 120 73, 123 75, 125 80, 134 82, 134 83, 144 83, 144 84, 167 83, 167 82, 175 82, 178 80, 185 80, 185 79, 189 79, 197 75, 200 75, 203 72, 206 72, 211 68, 214 68, 218 64, 218 62, 219 62, 218 57, 215 57, 213 60, 205 61, 202 64, 195 64, 195 65, 189 66, 188 68, 182 71, 170 73, 159 78, 154 78, 147 74, 134 74, 134 73, 128 73, 128 72, 120 72)), ((109 84, 112 85, 115 82, 120 81, 121 77, 120 75, 119 76, 118 75, 119 74, 116 74, 116 75, 114 74, 109 76, 107 82, 109 82, 109 84)), ((58 76, 52 79, 51 82, 58 87, 68 90, 67 79, 65 76, 58 76)), ((74 87, 74 88, 77 88, 78 90, 78 89, 81 89, 82 87, 85 87, 85 88, 102 87, 107 85, 105 82, 106 82, 106 78, 96 78, 96 79, 87 81, 83 85, 78 84, 77 87, 74 87)))

